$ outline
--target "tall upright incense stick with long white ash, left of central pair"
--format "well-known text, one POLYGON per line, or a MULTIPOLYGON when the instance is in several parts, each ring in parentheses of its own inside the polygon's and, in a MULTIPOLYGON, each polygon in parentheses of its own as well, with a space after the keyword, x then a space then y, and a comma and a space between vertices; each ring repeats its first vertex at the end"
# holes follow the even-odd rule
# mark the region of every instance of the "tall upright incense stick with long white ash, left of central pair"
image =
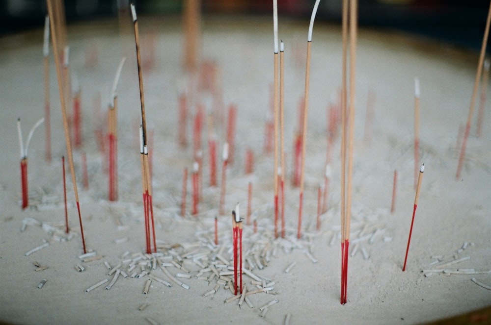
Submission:
POLYGON ((278 1, 273 0, 273 36, 274 36, 274 53, 273 53, 273 150, 274 150, 274 238, 278 238, 278 110, 279 110, 279 89, 278 89, 278 1))

